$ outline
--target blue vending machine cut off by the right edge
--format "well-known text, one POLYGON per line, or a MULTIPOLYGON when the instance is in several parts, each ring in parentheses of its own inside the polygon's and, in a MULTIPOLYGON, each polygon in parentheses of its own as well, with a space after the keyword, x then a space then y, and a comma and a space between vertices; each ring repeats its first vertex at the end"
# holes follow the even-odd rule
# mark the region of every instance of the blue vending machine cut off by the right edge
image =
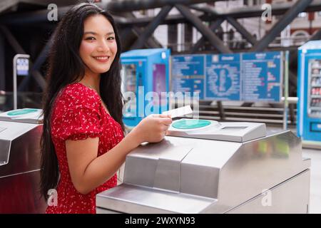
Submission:
POLYGON ((321 142, 321 41, 300 46, 297 80, 297 135, 321 142))

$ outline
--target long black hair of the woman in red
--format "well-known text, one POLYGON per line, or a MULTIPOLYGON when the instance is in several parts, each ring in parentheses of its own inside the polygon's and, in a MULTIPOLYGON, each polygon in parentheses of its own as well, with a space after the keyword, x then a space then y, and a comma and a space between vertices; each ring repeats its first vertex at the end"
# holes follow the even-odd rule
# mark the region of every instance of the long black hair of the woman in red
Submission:
POLYGON ((79 56, 79 47, 83 38, 83 22, 89 17, 101 14, 113 26, 117 43, 117 53, 111 68, 101 73, 99 89, 101 99, 106 104, 111 116, 121 125, 123 95, 121 93, 121 42, 116 24, 111 14, 95 4, 82 3, 73 6, 59 22, 52 37, 49 50, 47 87, 43 100, 44 130, 41 135, 41 182, 40 191, 45 199, 47 192, 56 188, 59 178, 58 160, 51 138, 51 112, 59 91, 66 85, 79 81, 85 73, 85 66, 79 56))

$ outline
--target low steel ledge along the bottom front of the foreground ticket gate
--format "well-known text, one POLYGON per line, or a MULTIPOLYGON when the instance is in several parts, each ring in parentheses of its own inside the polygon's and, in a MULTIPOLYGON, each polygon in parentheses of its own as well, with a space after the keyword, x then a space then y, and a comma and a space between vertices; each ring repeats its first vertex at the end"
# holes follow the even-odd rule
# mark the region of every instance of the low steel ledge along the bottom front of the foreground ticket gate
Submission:
POLYGON ((111 207, 107 207, 108 209, 123 213, 200 213, 216 201, 212 198, 123 184, 108 191, 108 195, 103 192, 96 201, 96 206, 106 208, 109 204, 111 207))

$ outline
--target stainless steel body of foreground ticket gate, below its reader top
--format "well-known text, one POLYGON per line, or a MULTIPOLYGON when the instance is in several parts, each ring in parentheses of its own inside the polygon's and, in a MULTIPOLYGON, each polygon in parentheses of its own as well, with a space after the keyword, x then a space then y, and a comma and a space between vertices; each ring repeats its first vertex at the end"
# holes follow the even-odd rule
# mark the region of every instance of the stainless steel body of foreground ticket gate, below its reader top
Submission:
POLYGON ((263 207, 255 199, 271 190, 275 199, 285 198, 258 212, 305 212, 309 167, 300 139, 290 131, 247 142, 169 136, 128 154, 124 183, 98 194, 96 203, 99 212, 255 212, 263 207), (293 199, 285 192, 298 185, 297 203, 289 209, 293 199))

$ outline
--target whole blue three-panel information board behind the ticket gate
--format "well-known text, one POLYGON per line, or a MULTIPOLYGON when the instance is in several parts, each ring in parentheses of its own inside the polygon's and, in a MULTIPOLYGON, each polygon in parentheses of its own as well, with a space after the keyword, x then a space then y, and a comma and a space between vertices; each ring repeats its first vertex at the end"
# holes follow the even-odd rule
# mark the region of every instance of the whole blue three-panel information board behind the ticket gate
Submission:
POLYGON ((172 56, 173 92, 199 92, 202 100, 280 102, 281 51, 172 56))

